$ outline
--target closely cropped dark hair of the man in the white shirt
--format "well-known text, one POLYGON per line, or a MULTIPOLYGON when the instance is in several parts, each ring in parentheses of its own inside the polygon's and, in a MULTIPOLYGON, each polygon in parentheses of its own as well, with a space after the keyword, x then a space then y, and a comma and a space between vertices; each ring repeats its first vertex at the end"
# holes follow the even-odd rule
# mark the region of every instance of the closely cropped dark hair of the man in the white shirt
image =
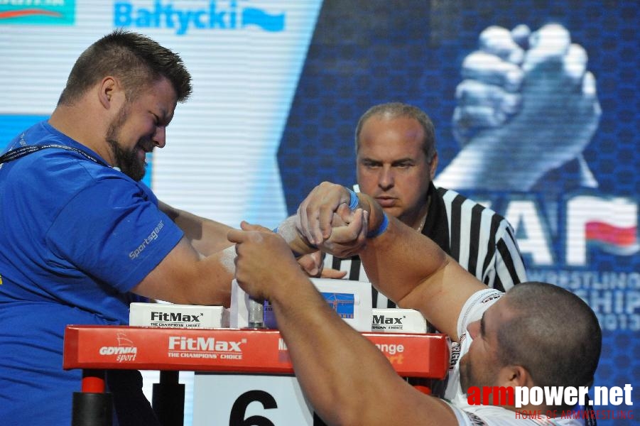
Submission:
POLYGON ((584 300, 557 285, 529 282, 511 288, 504 301, 514 317, 498 331, 501 365, 523 366, 536 386, 592 385, 602 330, 584 300))

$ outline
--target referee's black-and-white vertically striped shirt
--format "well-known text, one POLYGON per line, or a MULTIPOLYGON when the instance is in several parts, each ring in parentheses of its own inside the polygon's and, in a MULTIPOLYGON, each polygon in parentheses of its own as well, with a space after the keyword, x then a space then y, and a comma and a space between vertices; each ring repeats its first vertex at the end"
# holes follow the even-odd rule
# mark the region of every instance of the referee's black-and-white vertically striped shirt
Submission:
MULTIPOLYGON (((526 280, 524 263, 509 222, 453 190, 429 187, 429 211, 422 233, 491 288, 506 291, 526 280)), ((325 268, 347 271, 345 279, 369 282, 358 256, 325 257, 325 268)), ((371 288, 374 307, 396 307, 371 288)))

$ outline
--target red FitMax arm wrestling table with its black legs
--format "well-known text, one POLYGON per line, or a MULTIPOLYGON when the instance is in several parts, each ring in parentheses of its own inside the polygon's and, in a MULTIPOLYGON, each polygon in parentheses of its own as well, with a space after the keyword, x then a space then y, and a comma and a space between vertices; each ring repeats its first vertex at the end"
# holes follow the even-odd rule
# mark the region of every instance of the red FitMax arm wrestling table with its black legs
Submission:
MULTIPOLYGON (((449 341, 444 334, 362 334, 399 376, 442 379, 448 372, 449 341)), ((111 426, 112 399, 104 392, 108 369, 161 371, 161 383, 153 386, 153 410, 165 426, 183 424, 184 407, 175 407, 180 391, 184 403, 178 371, 294 373, 280 332, 271 329, 70 325, 65 330, 63 368, 82 369, 82 391, 73 395, 72 426, 111 426)), ((420 390, 429 392, 425 386, 420 390)))

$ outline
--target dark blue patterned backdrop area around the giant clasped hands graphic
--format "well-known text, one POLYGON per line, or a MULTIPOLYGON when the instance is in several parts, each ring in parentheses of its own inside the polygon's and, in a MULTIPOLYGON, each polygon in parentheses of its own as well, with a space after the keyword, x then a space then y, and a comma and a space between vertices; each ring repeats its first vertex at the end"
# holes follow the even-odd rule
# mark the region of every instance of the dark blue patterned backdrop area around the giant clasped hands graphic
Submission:
MULTIPOLYGON (((479 34, 489 26, 535 31, 560 23, 588 55, 602 109, 582 158, 548 170, 531 188, 459 191, 509 217, 531 280, 570 288, 597 312, 604 342, 595 385, 640 383, 639 14, 636 1, 325 1, 278 151, 289 213, 321 180, 355 182, 354 128, 377 103, 424 109, 436 127, 438 169, 447 168, 461 150, 452 134, 455 89, 479 34), (581 183, 585 165, 597 186, 581 183)), ((580 120, 562 104, 553 107, 560 112, 549 114, 565 114, 560 124, 580 120)), ((529 155, 575 136, 529 130, 533 138, 522 135, 533 141, 529 155)), ((640 401, 638 389, 633 400, 640 401)))

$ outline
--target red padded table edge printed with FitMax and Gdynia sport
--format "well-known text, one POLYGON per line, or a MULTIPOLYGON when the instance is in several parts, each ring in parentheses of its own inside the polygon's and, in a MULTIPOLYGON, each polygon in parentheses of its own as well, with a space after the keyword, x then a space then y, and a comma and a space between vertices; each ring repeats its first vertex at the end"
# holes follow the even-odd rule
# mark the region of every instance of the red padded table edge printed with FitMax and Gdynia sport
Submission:
MULTIPOLYGON (((448 372, 445 334, 362 335, 378 346, 400 376, 440 379, 448 372)), ((293 374, 278 330, 106 325, 67 326, 63 368, 293 374)))

